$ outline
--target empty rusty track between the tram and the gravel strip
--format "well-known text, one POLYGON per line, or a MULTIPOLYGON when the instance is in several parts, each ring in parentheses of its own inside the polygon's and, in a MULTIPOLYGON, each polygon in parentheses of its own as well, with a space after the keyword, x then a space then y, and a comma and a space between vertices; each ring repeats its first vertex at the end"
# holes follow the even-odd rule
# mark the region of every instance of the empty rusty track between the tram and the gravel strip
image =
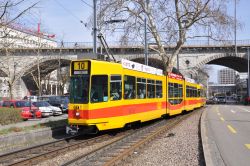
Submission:
POLYGON ((198 111, 193 111, 189 114, 177 116, 167 121, 162 120, 157 124, 138 130, 137 132, 131 133, 126 137, 99 147, 99 149, 93 150, 87 154, 68 161, 67 163, 64 163, 63 166, 118 165, 120 161, 133 154, 134 151, 140 149, 153 139, 157 138, 157 136, 160 136, 163 132, 172 129, 178 123, 197 112, 198 111))

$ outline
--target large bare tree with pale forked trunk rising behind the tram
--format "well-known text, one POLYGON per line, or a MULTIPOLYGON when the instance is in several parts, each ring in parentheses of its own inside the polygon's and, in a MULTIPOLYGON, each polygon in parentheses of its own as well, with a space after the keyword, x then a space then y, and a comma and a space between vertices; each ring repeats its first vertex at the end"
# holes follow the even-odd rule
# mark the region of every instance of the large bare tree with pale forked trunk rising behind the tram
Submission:
POLYGON ((123 28, 121 39, 143 40, 143 21, 148 20, 147 30, 153 48, 171 72, 177 55, 190 38, 209 37, 222 40, 230 37, 233 18, 227 14, 225 0, 100 0, 99 26, 112 29, 123 28), (105 20, 126 19, 121 24, 105 24, 105 20), (122 27, 121 27, 122 26, 122 27), (207 33, 209 31, 209 33, 207 33), (167 53, 164 45, 173 46, 167 53))

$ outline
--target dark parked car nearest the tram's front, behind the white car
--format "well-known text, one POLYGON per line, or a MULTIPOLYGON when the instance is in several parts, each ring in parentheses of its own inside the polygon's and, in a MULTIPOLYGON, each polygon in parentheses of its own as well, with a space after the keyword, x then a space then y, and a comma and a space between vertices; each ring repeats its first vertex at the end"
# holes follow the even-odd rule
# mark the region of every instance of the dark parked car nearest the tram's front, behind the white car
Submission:
POLYGON ((39 99, 61 108, 63 113, 68 112, 69 96, 41 96, 39 99))

